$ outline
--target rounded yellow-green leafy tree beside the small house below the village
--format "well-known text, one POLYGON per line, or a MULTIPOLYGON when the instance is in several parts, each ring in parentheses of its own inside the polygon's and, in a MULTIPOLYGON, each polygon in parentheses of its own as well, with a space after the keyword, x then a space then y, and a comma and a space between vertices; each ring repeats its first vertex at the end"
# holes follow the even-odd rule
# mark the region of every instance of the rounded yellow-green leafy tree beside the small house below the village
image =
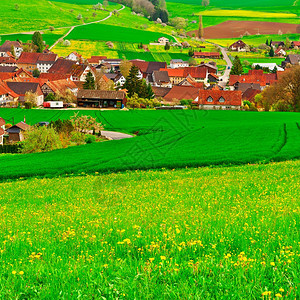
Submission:
POLYGON ((45 152, 62 148, 59 135, 54 128, 46 126, 33 127, 24 135, 22 153, 45 152))

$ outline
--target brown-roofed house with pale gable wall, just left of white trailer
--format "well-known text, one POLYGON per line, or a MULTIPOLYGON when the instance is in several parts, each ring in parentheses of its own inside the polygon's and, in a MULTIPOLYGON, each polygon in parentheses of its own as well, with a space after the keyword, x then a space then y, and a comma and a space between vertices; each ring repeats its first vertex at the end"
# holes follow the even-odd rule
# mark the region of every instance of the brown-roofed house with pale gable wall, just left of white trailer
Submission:
POLYGON ((22 104, 25 102, 25 94, 27 92, 36 94, 37 106, 42 106, 44 103, 44 95, 37 82, 7 82, 7 86, 18 95, 18 101, 22 104))

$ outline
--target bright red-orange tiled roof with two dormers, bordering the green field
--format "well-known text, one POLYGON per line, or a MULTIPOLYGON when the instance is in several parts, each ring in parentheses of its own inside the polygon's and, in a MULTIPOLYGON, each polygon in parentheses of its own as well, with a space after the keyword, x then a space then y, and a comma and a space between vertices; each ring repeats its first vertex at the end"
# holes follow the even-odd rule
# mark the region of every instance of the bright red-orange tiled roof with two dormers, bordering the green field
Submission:
POLYGON ((242 105, 241 91, 223 91, 223 90, 200 90, 198 102, 199 105, 242 105), (208 98, 212 98, 212 102, 208 102, 208 98), (220 98, 224 98, 224 102, 220 102, 220 98))

